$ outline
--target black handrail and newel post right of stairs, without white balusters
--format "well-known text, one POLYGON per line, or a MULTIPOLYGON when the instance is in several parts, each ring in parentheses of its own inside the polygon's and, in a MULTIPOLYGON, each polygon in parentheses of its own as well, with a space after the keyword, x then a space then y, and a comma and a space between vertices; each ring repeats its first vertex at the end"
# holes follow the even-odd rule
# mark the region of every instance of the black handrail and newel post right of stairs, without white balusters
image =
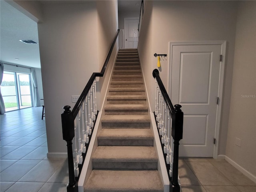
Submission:
MULTIPOLYGON (((170 97, 166 92, 164 84, 162 83, 162 80, 159 76, 159 71, 157 69, 153 70, 153 77, 158 83, 168 111, 172 117, 172 138, 174 139, 172 177, 170 177, 169 174, 170 165, 166 164, 168 176, 170 179, 170 192, 180 192, 180 185, 178 184, 178 158, 179 142, 182 139, 183 134, 183 112, 180 109, 182 106, 179 104, 176 104, 174 106, 172 105, 170 97)), ((166 154, 164 154, 164 156, 166 157, 166 154)))

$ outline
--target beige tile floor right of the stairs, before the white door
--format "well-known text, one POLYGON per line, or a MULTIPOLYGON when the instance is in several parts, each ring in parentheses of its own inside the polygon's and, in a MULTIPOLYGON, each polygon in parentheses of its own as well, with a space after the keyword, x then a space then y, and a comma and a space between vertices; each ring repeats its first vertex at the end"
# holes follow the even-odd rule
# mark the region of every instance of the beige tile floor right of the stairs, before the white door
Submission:
POLYGON ((182 192, 256 192, 256 183, 225 160, 179 160, 182 192))

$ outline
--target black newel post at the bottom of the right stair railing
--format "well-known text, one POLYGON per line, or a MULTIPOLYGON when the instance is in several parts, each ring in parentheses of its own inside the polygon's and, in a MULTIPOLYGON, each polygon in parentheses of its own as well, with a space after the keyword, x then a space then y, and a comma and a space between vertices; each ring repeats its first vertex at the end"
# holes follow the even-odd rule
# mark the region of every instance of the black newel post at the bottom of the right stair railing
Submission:
POLYGON ((174 118, 172 119, 172 138, 174 139, 174 152, 173 152, 173 168, 170 192, 180 192, 178 184, 178 159, 179 159, 179 142, 183 134, 183 112, 181 105, 174 105, 174 118))

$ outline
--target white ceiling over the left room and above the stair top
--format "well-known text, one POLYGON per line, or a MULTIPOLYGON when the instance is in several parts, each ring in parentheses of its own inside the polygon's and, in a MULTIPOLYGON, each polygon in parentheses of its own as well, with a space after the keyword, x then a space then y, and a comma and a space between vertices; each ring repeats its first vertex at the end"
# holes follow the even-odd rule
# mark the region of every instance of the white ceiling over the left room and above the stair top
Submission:
MULTIPOLYGON (((132 10, 139 12, 140 4, 141 0, 118 0, 118 11, 132 10)), ((25 44, 19 40, 38 42, 37 23, 7 2, 0 0, 0 61, 41 68, 39 45, 25 44)))

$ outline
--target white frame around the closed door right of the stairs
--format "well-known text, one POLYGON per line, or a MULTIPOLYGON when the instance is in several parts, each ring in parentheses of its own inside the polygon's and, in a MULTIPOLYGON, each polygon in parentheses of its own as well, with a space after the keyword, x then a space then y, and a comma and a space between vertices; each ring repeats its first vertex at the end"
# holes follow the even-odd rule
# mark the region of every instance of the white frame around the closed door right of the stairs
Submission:
MULTIPOLYGON (((219 84, 218 84, 218 97, 219 103, 216 110, 216 124, 215 124, 215 133, 214 138, 216 138, 216 143, 213 148, 213 158, 218 157, 218 146, 219 146, 219 137, 220 137, 220 117, 221 117, 221 108, 222 108, 222 98, 223 98, 223 83, 224 83, 224 68, 226 60, 226 41, 196 41, 196 42, 169 42, 169 69, 168 69, 168 94, 171 95, 172 84, 172 49, 173 46, 177 45, 221 45, 221 55, 222 61, 220 62, 220 73, 219 73, 219 84)), ((175 103, 174 103, 175 104, 175 103)))

